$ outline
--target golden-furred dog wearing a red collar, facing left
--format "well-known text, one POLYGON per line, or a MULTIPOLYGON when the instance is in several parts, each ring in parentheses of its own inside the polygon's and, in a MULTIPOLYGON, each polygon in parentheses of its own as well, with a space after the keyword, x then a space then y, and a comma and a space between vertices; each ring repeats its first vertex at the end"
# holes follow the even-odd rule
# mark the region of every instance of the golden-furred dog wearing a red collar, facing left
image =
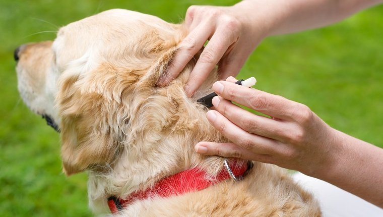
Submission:
MULTIPOLYGON (((60 133, 63 173, 87 171, 89 204, 113 216, 321 216, 313 196, 274 165, 204 156, 199 141, 228 142, 184 85, 195 63, 158 87, 183 24, 113 9, 15 51, 27 106, 60 133)), ((106 213, 107 214, 107 213, 106 213)))

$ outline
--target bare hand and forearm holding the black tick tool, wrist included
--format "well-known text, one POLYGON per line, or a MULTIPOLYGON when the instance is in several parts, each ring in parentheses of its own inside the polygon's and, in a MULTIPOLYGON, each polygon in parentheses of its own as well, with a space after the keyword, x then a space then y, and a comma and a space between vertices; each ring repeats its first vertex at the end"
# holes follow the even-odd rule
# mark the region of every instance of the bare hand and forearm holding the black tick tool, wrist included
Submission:
POLYGON ((216 111, 207 118, 232 143, 200 142, 197 152, 297 170, 383 207, 383 149, 331 128, 301 103, 226 81, 213 89, 216 111))

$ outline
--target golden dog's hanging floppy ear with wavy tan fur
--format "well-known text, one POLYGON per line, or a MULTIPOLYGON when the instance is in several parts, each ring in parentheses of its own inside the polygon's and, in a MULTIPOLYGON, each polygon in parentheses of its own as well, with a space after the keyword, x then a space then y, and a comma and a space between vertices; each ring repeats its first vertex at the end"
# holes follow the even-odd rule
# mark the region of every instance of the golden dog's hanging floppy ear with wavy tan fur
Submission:
POLYGON ((85 75, 65 72, 60 78, 56 101, 61 116, 63 172, 75 174, 108 166, 118 154, 129 120, 121 97, 132 92, 141 71, 102 65, 85 75))

